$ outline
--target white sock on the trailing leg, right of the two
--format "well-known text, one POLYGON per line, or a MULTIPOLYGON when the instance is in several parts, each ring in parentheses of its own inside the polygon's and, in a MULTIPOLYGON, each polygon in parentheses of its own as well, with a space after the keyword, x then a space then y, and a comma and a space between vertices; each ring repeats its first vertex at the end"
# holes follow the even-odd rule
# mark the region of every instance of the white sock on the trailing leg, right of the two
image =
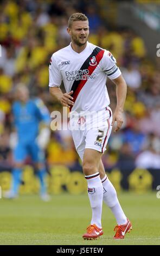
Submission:
POLYGON ((104 188, 104 202, 108 205, 108 207, 113 212, 113 215, 116 218, 117 224, 122 225, 127 222, 127 218, 121 209, 119 204, 117 193, 115 188, 113 187, 110 180, 108 180, 107 176, 101 180, 103 188, 104 188))

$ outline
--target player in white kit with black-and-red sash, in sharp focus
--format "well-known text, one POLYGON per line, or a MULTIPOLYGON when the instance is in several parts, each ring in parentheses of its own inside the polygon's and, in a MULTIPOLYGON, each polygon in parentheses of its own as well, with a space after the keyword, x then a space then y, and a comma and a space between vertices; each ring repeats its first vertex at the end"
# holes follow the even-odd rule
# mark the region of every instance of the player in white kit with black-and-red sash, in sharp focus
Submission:
POLYGON ((55 52, 50 59, 49 92, 63 106, 70 108, 70 129, 87 181, 92 220, 82 237, 92 240, 103 235, 101 212, 104 200, 117 221, 113 238, 124 239, 132 224, 121 209, 116 190, 106 176, 101 155, 114 122, 117 121, 114 131, 118 131, 123 123, 126 83, 112 53, 87 41, 89 25, 84 14, 75 13, 69 17, 67 32, 71 35, 71 44, 55 52), (107 76, 117 86, 113 121, 106 88, 107 76), (66 93, 59 88, 61 81, 66 93))

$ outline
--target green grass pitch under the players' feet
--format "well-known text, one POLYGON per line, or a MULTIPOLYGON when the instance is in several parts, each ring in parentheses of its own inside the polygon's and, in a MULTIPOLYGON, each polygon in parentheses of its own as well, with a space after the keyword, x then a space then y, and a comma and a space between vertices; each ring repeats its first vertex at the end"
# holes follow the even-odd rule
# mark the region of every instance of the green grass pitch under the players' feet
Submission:
POLYGON ((42 202, 38 196, 0 200, 1 245, 159 245, 160 199, 156 191, 148 194, 120 193, 120 203, 133 230, 124 240, 113 240, 116 221, 103 206, 102 239, 82 239, 91 219, 87 194, 65 193, 42 202))

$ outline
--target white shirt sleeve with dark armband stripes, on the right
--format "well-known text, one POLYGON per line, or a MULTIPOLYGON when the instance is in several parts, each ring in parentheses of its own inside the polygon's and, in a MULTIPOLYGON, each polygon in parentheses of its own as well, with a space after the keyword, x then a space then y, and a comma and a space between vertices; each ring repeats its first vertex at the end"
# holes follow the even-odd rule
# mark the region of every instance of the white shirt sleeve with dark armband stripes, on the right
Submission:
POLYGON ((121 71, 116 63, 116 59, 113 57, 112 53, 105 51, 103 57, 103 70, 111 80, 116 79, 121 75, 121 71))

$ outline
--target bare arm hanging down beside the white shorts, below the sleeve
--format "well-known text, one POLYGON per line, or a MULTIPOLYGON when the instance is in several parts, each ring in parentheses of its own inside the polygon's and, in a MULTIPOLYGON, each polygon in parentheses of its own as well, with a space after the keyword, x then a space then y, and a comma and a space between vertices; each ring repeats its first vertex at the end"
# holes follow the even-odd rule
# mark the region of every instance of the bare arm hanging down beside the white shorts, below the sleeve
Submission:
POLYGON ((123 111, 126 100, 127 85, 122 75, 112 80, 116 84, 117 106, 113 114, 112 125, 117 121, 114 132, 117 132, 123 124, 123 111))

